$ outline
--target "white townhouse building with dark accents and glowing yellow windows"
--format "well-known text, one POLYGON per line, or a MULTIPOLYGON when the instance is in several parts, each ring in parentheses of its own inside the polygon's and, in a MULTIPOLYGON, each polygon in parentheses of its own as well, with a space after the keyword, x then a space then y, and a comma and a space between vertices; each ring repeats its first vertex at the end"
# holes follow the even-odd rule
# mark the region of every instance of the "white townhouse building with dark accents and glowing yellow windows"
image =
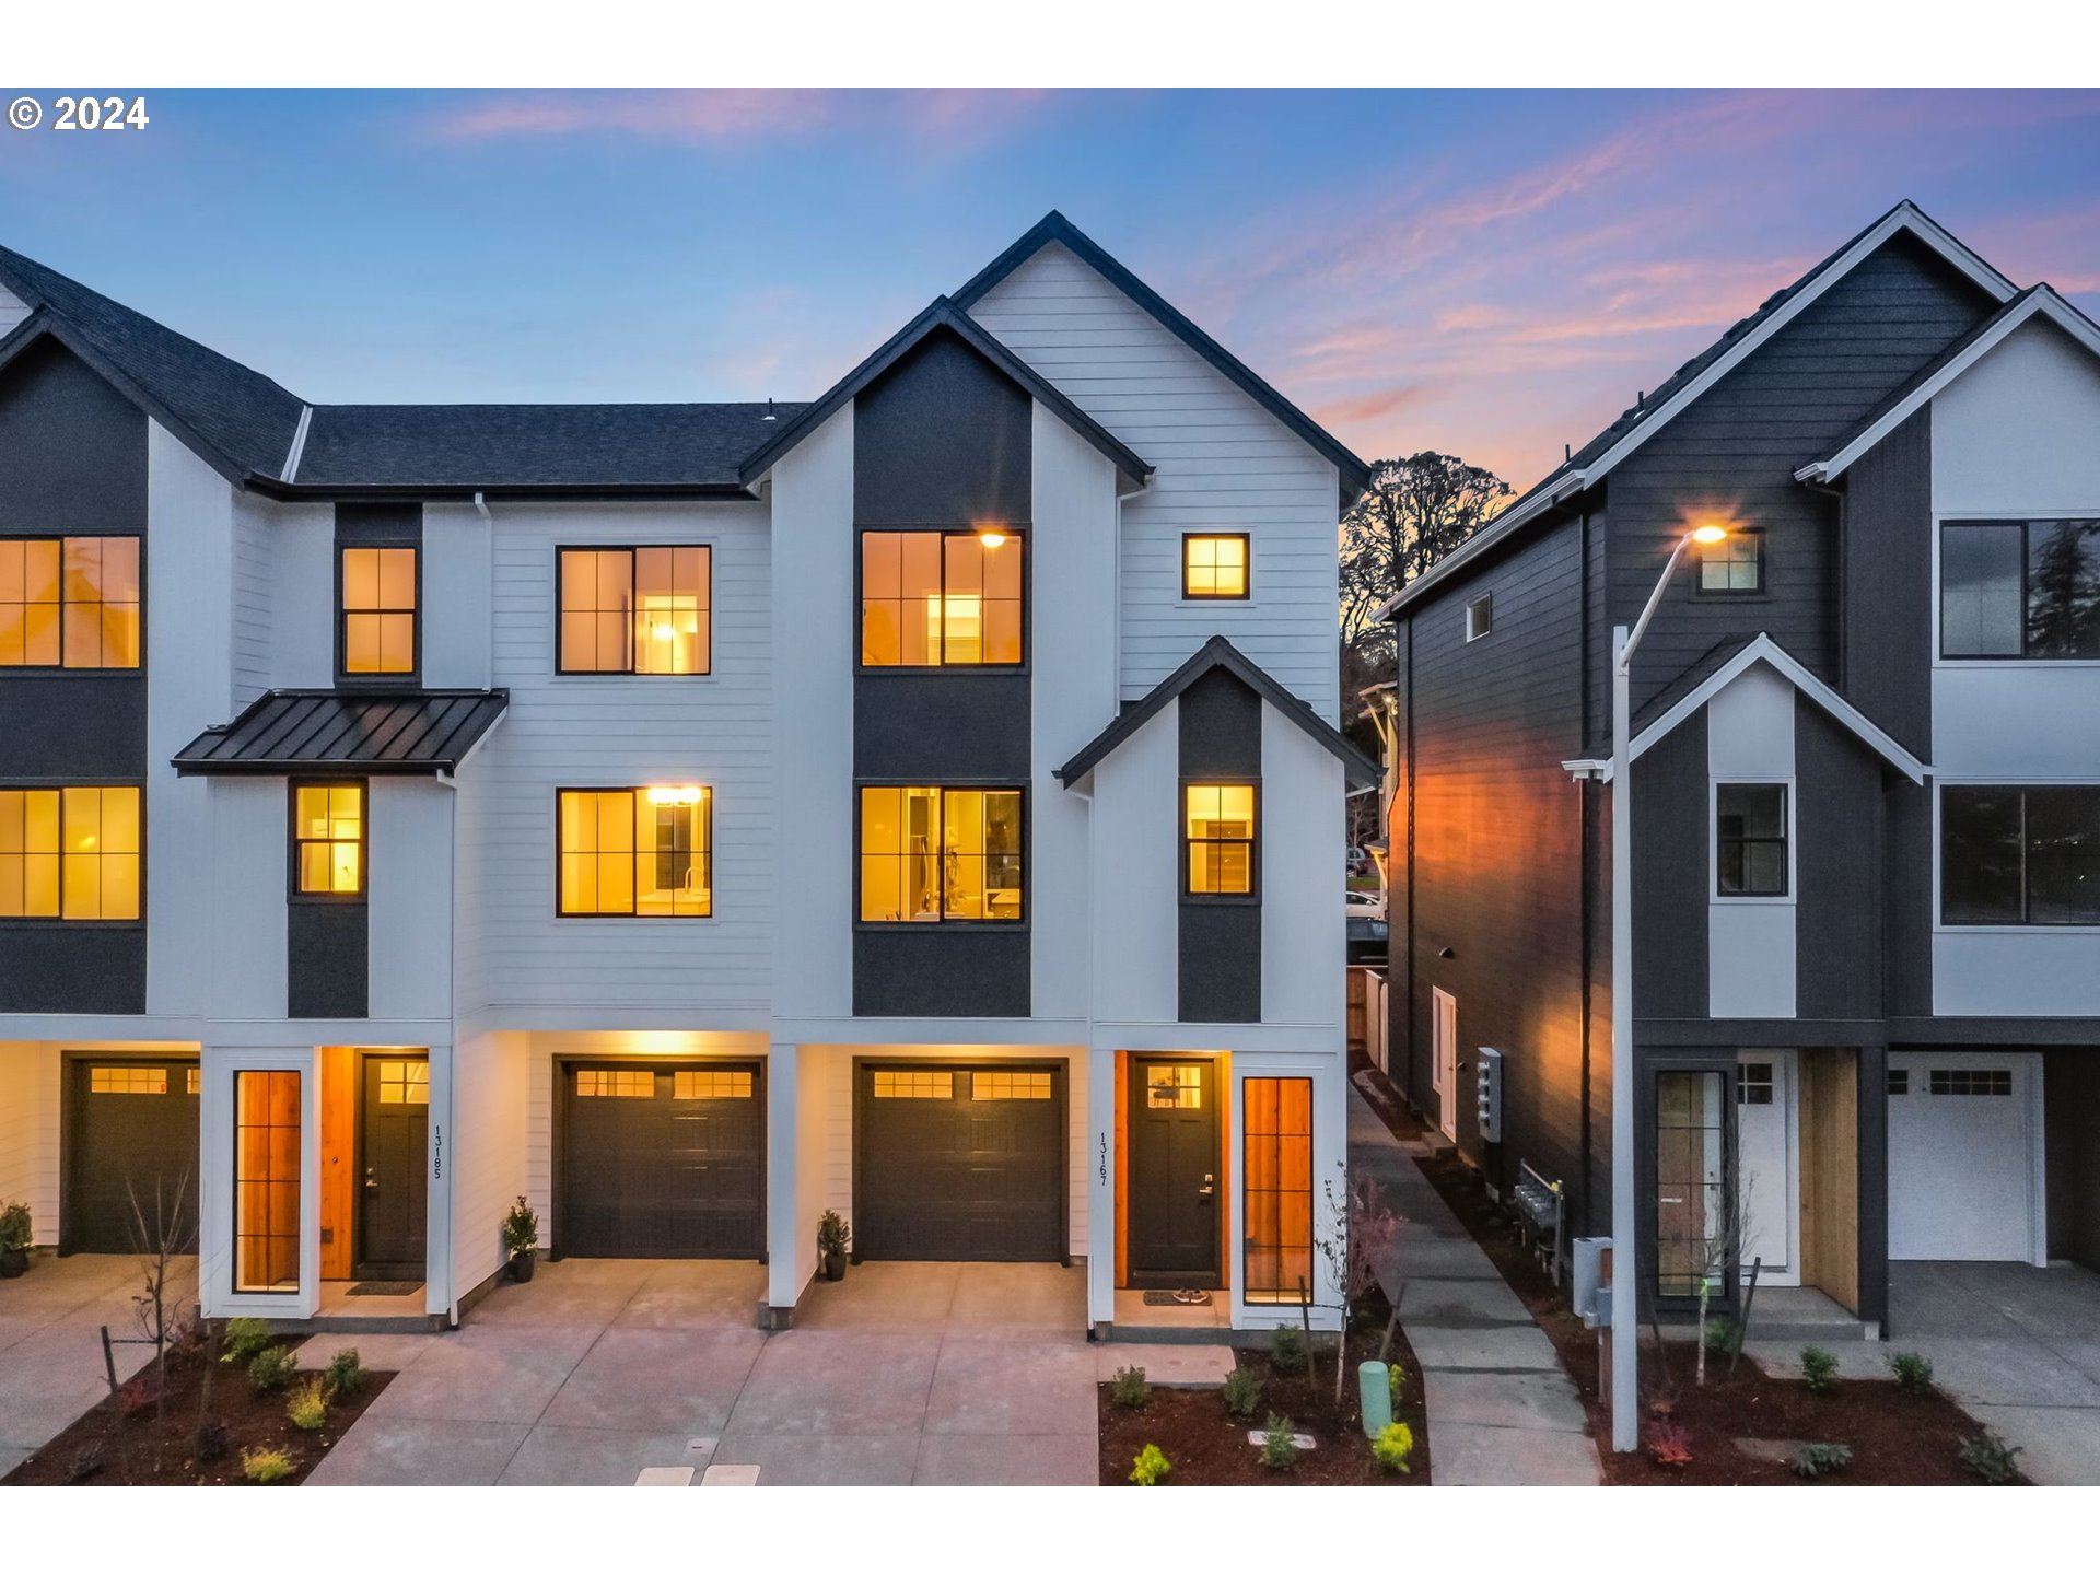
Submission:
MULTIPOLYGON (((1331 1306, 1365 466, 1052 214, 808 405, 309 405, 0 252, 0 1199, 1331 1306)), ((384 1302, 384 1298, 382 1298, 384 1302)), ((1327 1319, 1331 1315, 1317 1312, 1327 1319)))

